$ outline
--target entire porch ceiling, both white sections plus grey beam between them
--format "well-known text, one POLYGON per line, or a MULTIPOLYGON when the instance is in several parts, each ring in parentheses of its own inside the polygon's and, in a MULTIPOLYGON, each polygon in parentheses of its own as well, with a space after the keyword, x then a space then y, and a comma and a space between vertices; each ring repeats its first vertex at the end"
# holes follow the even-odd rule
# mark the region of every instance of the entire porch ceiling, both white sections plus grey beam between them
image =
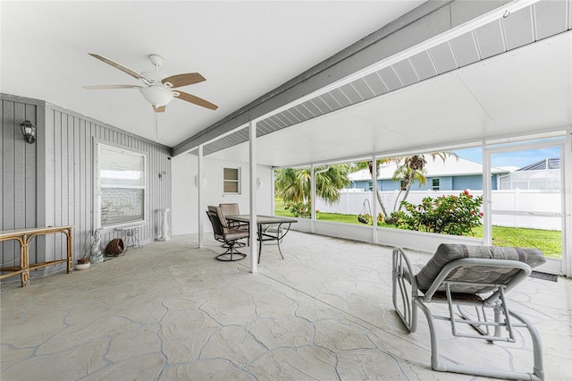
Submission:
POLYGON ((45 99, 173 148, 285 166, 503 140, 572 124, 566 1, 1 2, 2 92, 45 99), (22 20, 26 27, 22 27, 22 20), (154 114, 130 68, 168 74, 216 111, 154 114), (541 69, 539 69, 541 68, 541 69), (133 93, 135 92, 135 93, 133 93), (239 131, 240 130, 240 131, 239 131), (223 137, 223 139, 219 139, 223 137))

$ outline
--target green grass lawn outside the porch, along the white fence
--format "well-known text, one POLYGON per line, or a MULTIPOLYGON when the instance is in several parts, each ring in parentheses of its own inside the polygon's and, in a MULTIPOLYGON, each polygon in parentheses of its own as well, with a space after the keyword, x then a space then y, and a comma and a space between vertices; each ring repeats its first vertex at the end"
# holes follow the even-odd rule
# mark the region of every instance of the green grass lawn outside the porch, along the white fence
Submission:
MULTIPOLYGON (((276 216, 292 216, 285 209, 282 201, 275 200, 276 216)), ((356 215, 341 215, 338 213, 318 213, 320 221, 332 221, 345 224, 361 224, 356 215)), ((378 223, 378 226, 388 226, 378 223)), ((389 226, 388 226, 389 227, 389 226)), ((475 237, 483 237, 483 227, 475 229, 475 237)), ((538 248, 543 250, 547 257, 560 258, 562 254, 562 233, 552 230, 526 229, 505 226, 492 226, 492 244, 495 246, 517 246, 524 248, 538 248)))

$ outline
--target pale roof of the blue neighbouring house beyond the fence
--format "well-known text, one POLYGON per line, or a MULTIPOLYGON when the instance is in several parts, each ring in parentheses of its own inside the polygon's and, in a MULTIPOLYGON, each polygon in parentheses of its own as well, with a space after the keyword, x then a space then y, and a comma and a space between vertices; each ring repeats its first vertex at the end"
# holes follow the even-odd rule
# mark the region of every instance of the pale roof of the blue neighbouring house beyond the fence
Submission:
MULTIPOLYGON (((397 165, 395 163, 381 165, 377 178, 381 180, 391 179, 396 168, 397 165)), ((440 158, 436 158, 435 160, 428 158, 425 170, 425 177, 466 176, 471 174, 483 174, 483 165, 461 157, 447 157, 444 162, 440 158)), ((492 167, 491 173, 507 174, 509 171, 502 168, 492 167)), ((354 182, 368 181, 372 178, 371 174, 369 174, 369 169, 362 169, 351 173, 348 177, 350 181, 354 182)))

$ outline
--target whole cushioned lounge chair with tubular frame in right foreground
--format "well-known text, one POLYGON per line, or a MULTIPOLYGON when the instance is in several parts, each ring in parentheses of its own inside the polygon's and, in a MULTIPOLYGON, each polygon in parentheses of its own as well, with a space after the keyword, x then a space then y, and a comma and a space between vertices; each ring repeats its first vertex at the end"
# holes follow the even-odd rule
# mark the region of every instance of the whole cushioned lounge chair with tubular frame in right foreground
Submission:
MULTIPOLYGON (((540 335, 526 318, 509 310, 506 294, 530 275, 531 267, 545 261, 543 252, 537 249, 442 244, 425 267, 416 273, 405 252, 396 247, 393 249, 393 307, 411 333, 417 327, 417 308, 425 314, 431 335, 433 370, 484 377, 543 380, 540 335), (448 314, 433 314, 428 307, 431 303, 446 304, 448 314), (456 315, 453 306, 457 307, 460 316, 456 315), (461 306, 472 306, 475 312, 468 314, 461 306), (487 318, 487 310, 492 310, 492 319, 487 318), (532 338, 533 372, 518 373, 513 369, 496 370, 443 363, 439 353, 440 327, 436 326, 436 320, 450 324, 453 336, 484 339, 489 343, 515 343, 515 328, 526 328, 532 338)), ((470 351, 475 350, 476 347, 470 347, 470 351)), ((477 355, 474 353, 474 356, 477 355)))

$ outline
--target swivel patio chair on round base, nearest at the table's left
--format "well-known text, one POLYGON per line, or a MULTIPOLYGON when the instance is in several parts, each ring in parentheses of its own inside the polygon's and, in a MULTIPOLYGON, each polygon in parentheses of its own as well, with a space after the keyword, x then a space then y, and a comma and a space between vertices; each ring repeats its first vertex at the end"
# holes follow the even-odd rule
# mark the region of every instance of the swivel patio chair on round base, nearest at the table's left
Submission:
POLYGON ((226 251, 216 256, 216 258, 223 261, 245 258, 247 255, 236 250, 235 246, 238 246, 239 240, 248 238, 250 233, 242 229, 229 227, 220 207, 209 206, 206 210, 206 215, 213 225, 214 239, 223 242, 224 247, 227 248, 226 251))

